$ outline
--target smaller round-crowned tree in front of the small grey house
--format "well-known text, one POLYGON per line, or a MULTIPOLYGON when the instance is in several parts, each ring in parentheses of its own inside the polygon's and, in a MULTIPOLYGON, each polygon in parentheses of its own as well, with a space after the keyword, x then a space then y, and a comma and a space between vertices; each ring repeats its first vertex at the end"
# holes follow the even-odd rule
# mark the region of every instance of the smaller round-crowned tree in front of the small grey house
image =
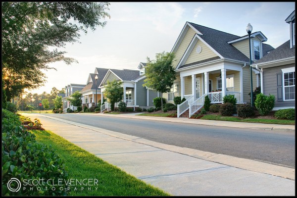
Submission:
POLYGON ((117 82, 116 80, 113 80, 112 82, 108 81, 105 86, 104 97, 107 98, 113 111, 114 103, 123 99, 123 88, 121 87, 121 84, 121 81, 117 82))

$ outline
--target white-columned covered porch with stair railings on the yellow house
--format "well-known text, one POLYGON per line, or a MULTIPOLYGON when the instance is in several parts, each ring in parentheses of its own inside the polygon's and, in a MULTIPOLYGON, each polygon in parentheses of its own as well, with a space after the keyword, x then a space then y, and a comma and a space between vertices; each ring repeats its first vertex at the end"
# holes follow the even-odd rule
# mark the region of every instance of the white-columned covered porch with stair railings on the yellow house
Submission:
POLYGON ((221 67, 181 72, 181 98, 186 101, 178 105, 178 117, 187 110, 191 117, 203 107, 205 96, 209 97, 211 103, 223 103, 225 96, 234 95, 237 103, 243 103, 242 68, 221 67))

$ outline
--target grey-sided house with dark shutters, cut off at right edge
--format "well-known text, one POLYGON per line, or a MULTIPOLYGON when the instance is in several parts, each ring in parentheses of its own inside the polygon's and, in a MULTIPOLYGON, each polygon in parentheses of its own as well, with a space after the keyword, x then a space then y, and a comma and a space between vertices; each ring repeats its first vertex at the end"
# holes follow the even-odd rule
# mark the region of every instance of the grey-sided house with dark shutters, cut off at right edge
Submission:
POLYGON ((273 110, 295 108, 295 10, 285 21, 290 40, 251 65, 260 71, 261 93, 275 96, 273 110))

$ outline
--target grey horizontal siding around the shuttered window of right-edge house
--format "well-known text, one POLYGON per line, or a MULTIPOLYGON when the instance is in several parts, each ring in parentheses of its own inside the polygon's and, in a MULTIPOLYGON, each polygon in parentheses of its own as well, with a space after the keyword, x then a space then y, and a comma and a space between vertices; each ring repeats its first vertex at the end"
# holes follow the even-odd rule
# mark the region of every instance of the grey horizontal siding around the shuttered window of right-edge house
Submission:
MULTIPOLYGON (((277 73, 282 73, 282 69, 295 67, 295 64, 288 64, 277 67, 270 67, 263 69, 263 87, 264 95, 268 96, 269 94, 275 96, 275 105, 274 107, 286 107, 286 106, 295 106, 295 100, 289 101, 278 101, 277 100, 277 73)), ((284 98, 284 96, 283 96, 284 98)))

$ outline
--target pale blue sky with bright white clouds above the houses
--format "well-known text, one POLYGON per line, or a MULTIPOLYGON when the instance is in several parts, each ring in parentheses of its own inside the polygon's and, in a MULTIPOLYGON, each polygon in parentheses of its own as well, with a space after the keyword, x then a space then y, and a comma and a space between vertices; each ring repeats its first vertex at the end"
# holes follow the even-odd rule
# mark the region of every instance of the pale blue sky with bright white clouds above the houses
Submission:
POLYGON ((147 57, 170 52, 187 21, 237 36, 247 35, 250 23, 252 32, 261 31, 265 43, 277 48, 290 39, 285 19, 294 10, 295 2, 110 2, 105 27, 89 30, 80 43, 61 49, 78 63, 50 63, 57 71, 44 71, 45 86, 28 92, 86 84, 96 67, 137 70, 147 57))

